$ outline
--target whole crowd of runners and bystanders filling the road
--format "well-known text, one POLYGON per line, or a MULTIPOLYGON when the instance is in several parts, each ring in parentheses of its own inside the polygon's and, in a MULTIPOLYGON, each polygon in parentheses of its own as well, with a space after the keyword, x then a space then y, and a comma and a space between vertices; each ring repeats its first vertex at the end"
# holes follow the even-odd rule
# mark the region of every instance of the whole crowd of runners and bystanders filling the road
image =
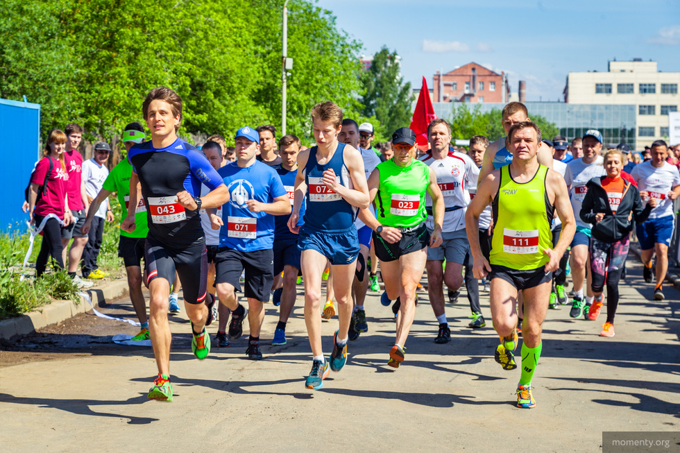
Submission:
POLYGON ((119 256, 141 323, 132 340, 150 339, 158 366, 148 398, 173 399, 169 313, 181 310, 180 287, 196 358, 207 357, 211 341, 226 347, 239 339, 247 319, 245 353, 259 360, 261 333, 271 334, 272 345, 287 343, 301 280, 312 350, 305 386, 314 389, 345 366, 348 341, 368 332, 364 300, 367 291, 380 291, 378 266, 381 302, 391 305, 396 321, 386 360, 393 368, 405 361, 423 273, 439 324, 435 343, 451 336, 444 286, 454 301, 466 285, 470 328, 486 326, 481 287, 500 338, 495 361, 504 370, 520 365, 517 404, 526 408, 536 404, 532 379, 547 310, 570 303, 568 273, 569 316, 596 320, 606 287, 600 334, 613 336, 618 284, 635 231, 645 281, 652 282, 656 270, 654 298, 663 300, 680 173, 667 162, 662 140, 652 144, 648 160, 635 164, 627 144, 603 150, 598 130, 572 142, 545 139, 518 102, 502 111, 506 137, 490 144, 475 135, 467 150, 454 148, 450 124, 435 119, 425 153, 406 127, 374 148, 373 126, 344 118, 332 102, 312 109, 311 148, 295 135, 277 142, 275 128, 266 125, 237 130, 233 148, 219 135, 196 148, 178 138, 182 99, 165 87, 148 93, 142 115, 151 139, 142 124, 128 124, 121 131, 127 157, 110 172, 108 144, 96 144, 93 159, 83 162, 80 126, 51 131, 24 209, 43 234, 37 276, 51 257, 84 285, 103 276, 96 255, 103 222, 114 220, 108 197, 116 192, 119 256), (76 277, 81 258, 85 280, 76 277), (150 295, 148 315, 142 284, 150 295), (278 324, 261 332, 270 298, 279 307, 278 324), (327 356, 322 319, 335 314, 327 356), (206 326, 215 319, 211 340, 206 326))

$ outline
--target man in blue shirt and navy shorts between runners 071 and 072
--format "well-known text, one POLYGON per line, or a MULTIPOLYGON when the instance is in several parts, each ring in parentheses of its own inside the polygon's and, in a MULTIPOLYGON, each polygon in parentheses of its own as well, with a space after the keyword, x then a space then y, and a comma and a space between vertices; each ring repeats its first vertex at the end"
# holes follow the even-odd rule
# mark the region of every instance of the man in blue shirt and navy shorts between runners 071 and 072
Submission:
MULTIPOLYGON (((279 153, 281 166, 276 172, 281 178, 283 187, 288 193, 291 206, 295 200, 295 178, 298 174, 298 153, 300 153, 300 139, 295 135, 284 135, 279 140, 279 153)), ((305 215, 305 203, 300 206, 300 219, 298 226, 303 225, 305 215)), ((293 234, 288 228, 290 215, 276 216, 274 218, 274 277, 279 277, 280 287, 274 291, 275 298, 280 303, 279 320, 274 330, 272 345, 280 346, 287 343, 286 325, 288 318, 293 312, 295 300, 298 295, 296 282, 300 273, 300 249, 298 248, 298 235, 293 234)), ((278 287, 278 284, 274 284, 278 287)))

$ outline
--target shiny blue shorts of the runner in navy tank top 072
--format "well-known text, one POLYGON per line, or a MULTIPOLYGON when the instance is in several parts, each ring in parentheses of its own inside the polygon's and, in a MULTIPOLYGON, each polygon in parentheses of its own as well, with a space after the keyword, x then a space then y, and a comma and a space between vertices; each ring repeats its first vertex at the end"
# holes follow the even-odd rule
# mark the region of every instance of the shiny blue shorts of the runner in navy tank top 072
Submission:
POLYGON ((300 250, 316 250, 328 258, 330 264, 352 264, 359 255, 357 228, 318 231, 303 225, 298 235, 300 250))

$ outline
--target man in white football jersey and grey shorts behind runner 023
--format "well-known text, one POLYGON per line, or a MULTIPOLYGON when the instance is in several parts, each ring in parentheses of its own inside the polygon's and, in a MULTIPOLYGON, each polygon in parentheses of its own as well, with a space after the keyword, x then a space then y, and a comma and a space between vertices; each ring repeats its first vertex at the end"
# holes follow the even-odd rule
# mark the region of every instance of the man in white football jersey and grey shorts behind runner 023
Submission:
MULTIPOLYGON (((457 291, 463 284, 463 265, 470 250, 465 234, 465 210, 470 203, 468 187, 477 184, 479 169, 468 155, 449 151, 451 126, 444 119, 435 119, 427 129, 430 151, 420 161, 430 166, 436 175, 437 184, 444 197, 445 213, 441 247, 427 250, 427 294, 430 296, 432 311, 439 323, 434 343, 448 343, 451 330, 444 309, 443 284, 449 291, 457 291), (443 262, 446 260, 446 269, 443 262)), ((432 198, 425 199, 427 230, 434 231, 432 198)))

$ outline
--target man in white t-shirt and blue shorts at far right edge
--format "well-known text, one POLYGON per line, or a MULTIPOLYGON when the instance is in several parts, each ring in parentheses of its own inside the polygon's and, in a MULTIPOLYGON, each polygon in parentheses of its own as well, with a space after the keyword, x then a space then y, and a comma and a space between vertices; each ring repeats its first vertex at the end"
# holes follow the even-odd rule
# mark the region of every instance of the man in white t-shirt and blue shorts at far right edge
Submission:
POLYGON ((680 195, 680 173, 677 166, 665 162, 668 145, 663 140, 652 143, 652 160, 638 164, 631 176, 638 182, 640 195, 656 198, 649 219, 638 223, 636 234, 642 248, 645 282, 652 282, 652 259, 656 252, 656 286, 654 299, 663 300, 663 280, 668 271, 668 246, 673 237, 675 214, 673 200, 680 195))

